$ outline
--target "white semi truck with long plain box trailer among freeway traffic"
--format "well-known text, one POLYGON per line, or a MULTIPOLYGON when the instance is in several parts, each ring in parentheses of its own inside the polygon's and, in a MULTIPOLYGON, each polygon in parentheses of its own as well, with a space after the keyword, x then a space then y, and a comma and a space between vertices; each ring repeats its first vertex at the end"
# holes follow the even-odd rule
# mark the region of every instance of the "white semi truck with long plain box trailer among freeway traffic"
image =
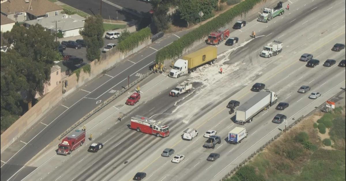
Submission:
POLYGON ((267 110, 277 102, 277 95, 274 91, 265 89, 258 92, 254 97, 242 104, 236 111, 237 124, 245 124, 253 121, 256 114, 262 110, 267 110))

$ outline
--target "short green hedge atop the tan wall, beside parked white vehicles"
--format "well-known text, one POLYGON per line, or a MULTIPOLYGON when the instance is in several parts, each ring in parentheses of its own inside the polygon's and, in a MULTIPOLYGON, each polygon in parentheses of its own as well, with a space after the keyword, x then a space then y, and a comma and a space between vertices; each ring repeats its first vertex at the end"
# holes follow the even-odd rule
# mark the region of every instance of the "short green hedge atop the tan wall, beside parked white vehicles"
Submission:
POLYGON ((151 30, 150 28, 143 28, 142 30, 139 30, 138 32, 135 32, 131 34, 131 36, 127 37, 126 39, 122 40, 117 48, 120 52, 128 52, 130 50, 135 49, 138 47, 139 43, 142 43, 145 39, 149 38, 151 36, 151 30))

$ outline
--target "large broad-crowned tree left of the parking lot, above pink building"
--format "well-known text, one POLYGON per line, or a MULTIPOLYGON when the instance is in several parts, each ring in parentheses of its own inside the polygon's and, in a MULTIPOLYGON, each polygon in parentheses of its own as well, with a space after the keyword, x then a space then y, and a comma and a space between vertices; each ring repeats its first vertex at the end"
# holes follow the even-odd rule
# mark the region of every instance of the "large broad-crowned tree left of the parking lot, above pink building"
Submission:
POLYGON ((61 60, 57 51, 58 43, 54 42, 55 37, 50 31, 36 24, 28 29, 22 26, 13 26, 11 32, 5 33, 4 37, 13 43, 13 49, 9 52, 18 52, 26 61, 25 77, 28 86, 25 87, 26 101, 28 109, 36 93, 40 95, 44 92, 44 84, 51 78, 51 68, 54 61, 61 60))

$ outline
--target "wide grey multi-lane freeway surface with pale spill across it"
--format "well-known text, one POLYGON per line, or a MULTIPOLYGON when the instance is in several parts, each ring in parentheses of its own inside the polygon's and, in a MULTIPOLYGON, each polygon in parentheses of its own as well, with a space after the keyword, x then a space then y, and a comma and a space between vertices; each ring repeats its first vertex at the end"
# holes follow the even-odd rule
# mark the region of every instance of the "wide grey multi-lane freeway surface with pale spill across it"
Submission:
MULTIPOLYGON (((27 165, 37 169, 32 169, 24 180, 131 180, 139 171, 147 173, 145 180, 220 180, 284 128, 283 124, 271 122, 277 113, 285 114, 291 124, 345 88, 345 68, 337 64, 322 66, 327 59, 335 59, 337 63, 345 59, 345 50, 330 50, 335 43, 345 44, 345 1, 294 1, 290 11, 282 16, 268 23, 249 19, 246 27, 232 31, 231 36, 238 37, 239 42, 233 47, 220 44, 216 64, 203 66, 179 79, 156 76, 142 87, 142 99, 135 106, 125 106, 126 97, 122 97, 93 117, 87 134, 93 133, 92 142, 104 143, 102 150, 87 152, 91 143, 87 141, 64 157, 55 154, 54 143, 27 165), (249 37, 252 31, 257 32, 256 39, 249 37), (259 57, 260 49, 273 40, 284 43, 282 53, 271 58, 259 57), (303 53, 313 54, 320 65, 306 67, 306 62, 298 60, 303 53), (220 67, 223 74, 218 73, 220 67), (168 97, 171 88, 183 81, 193 82, 193 91, 179 98, 168 97), (259 113, 253 122, 244 125, 249 135, 242 143, 227 144, 227 133, 236 127, 235 114, 228 114, 227 102, 246 102, 256 94, 250 91, 255 82, 265 83, 266 88, 276 92, 279 102, 288 102, 290 106, 283 111, 272 107, 259 113), (310 86, 311 91, 298 93, 302 85, 310 86), (322 96, 309 99, 312 91, 321 92, 322 96), (119 109, 125 113, 121 122, 116 121, 119 109), (133 115, 164 122, 170 126, 171 135, 156 138, 128 129, 133 115), (181 135, 186 128, 196 128, 200 134, 193 141, 184 141, 181 135), (210 129, 222 138, 215 149, 202 147, 206 141, 202 135, 210 129), (161 157, 165 148, 185 155, 185 160, 176 164, 171 162, 172 157, 161 157), (212 152, 219 153, 220 159, 207 161, 212 152)), ((203 46, 206 45, 201 44, 198 49, 203 46)), ((88 97, 103 95, 95 92, 88 97)))

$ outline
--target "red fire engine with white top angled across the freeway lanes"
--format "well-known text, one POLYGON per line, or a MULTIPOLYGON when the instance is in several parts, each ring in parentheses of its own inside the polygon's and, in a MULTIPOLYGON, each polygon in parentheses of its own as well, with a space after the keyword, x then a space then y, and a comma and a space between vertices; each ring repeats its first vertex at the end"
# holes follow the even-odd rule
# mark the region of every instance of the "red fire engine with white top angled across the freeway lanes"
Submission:
POLYGON ((150 118, 136 115, 131 118, 131 129, 147 134, 154 134, 157 137, 168 137, 170 135, 169 127, 161 122, 156 122, 150 118))

